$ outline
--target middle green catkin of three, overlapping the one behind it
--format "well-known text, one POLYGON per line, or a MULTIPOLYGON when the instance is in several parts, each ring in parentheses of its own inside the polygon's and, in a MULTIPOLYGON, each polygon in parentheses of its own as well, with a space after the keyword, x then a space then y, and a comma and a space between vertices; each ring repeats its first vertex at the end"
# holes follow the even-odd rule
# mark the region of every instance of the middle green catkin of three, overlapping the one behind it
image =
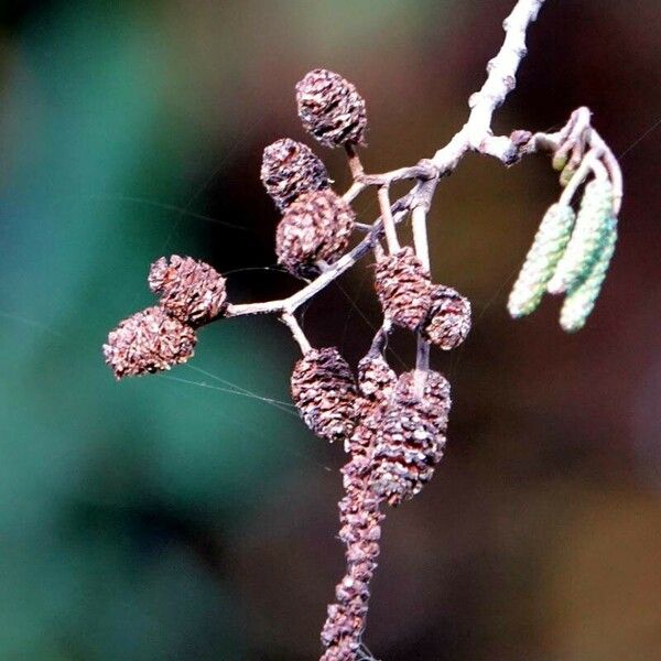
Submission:
POLYGON ((562 294, 587 278, 602 251, 613 214, 613 186, 607 180, 593 180, 585 186, 576 226, 546 290, 562 294))

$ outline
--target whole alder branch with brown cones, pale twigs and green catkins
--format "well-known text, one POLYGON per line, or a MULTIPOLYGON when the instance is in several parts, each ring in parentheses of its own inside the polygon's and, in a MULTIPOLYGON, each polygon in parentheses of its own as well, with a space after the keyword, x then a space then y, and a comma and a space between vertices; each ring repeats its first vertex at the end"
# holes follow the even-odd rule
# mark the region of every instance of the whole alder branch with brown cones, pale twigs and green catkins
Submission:
POLYGON ((466 123, 431 159, 411 166, 366 173, 357 151, 365 145, 365 100, 339 74, 306 74, 296 85, 299 116, 322 144, 344 148, 351 185, 342 196, 335 193, 322 160, 290 139, 264 150, 261 180, 283 214, 277 230, 279 263, 296 275, 314 273, 314 279, 285 299, 235 304, 227 301, 225 279, 209 264, 187 257, 161 258, 149 274, 159 305, 121 322, 104 346, 106 361, 119 379, 185 362, 193 355, 196 329, 220 318, 275 314, 289 327, 303 354, 292 373, 294 404, 317 436, 343 440, 350 454, 343 468, 346 495, 339 502, 347 571, 327 610, 322 661, 355 661, 364 653, 369 583, 386 518, 381 506, 415 496, 443 456, 449 383, 430 368, 430 349, 434 345, 451 350, 465 340, 470 303, 431 279, 427 218, 441 178, 469 152, 496 158, 506 166, 524 155, 552 154, 564 191, 544 215, 510 294, 513 317, 530 314, 546 292, 566 292, 561 326, 577 330, 594 306, 613 256, 622 176, 592 127, 589 110, 576 109, 552 133, 514 130, 494 136, 491 130, 494 112, 516 86, 527 31, 543 2, 516 2, 503 21, 505 40, 487 65, 487 78, 468 100, 466 123), (411 189, 392 203, 390 187, 400 181, 410 181, 411 189), (575 214, 572 199, 583 184, 575 214), (376 188, 379 216, 371 224, 357 223, 350 203, 369 188, 376 188), (402 248, 397 232, 398 224, 409 217, 413 249, 402 248), (354 230, 365 236, 347 251, 354 230), (295 313, 372 251, 383 319, 355 379, 337 348, 311 345, 295 313), (416 340, 414 369, 400 376, 383 355, 393 326, 408 329, 416 340))

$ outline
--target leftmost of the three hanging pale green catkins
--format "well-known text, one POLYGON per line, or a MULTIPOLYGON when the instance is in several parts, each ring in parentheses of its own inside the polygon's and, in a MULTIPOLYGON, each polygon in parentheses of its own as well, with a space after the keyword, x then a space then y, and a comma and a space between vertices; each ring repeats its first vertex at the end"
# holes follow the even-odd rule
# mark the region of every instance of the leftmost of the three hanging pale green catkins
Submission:
POLYGON ((544 214, 509 295, 507 308, 512 317, 530 314, 540 304, 570 240, 574 219, 574 209, 568 205, 553 204, 544 214))

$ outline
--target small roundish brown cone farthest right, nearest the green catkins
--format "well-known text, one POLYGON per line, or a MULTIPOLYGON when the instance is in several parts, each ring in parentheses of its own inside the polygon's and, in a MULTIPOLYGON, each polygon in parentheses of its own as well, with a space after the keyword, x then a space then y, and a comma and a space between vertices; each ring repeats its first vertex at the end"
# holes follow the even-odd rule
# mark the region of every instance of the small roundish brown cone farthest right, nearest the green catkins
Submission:
POLYGON ((442 284, 432 292, 432 306, 422 326, 422 335, 447 351, 458 347, 470 330, 470 301, 442 284))

